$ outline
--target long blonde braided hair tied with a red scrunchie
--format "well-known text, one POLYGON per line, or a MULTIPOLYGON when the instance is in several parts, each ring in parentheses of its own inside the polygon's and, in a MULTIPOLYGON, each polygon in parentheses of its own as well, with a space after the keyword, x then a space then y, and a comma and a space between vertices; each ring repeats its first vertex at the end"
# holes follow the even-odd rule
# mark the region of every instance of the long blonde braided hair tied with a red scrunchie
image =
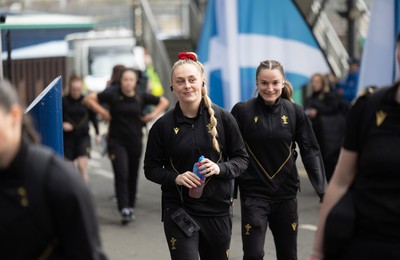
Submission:
MULTIPOLYGON (((197 54, 194 52, 180 52, 180 53, 178 53, 178 60, 172 66, 171 79, 172 79, 172 74, 175 71, 175 68, 180 65, 183 65, 183 64, 192 64, 192 65, 196 66, 199 69, 201 75, 204 76, 204 66, 203 66, 203 64, 201 64, 201 62, 198 61, 197 54)), ((205 86, 204 81, 203 81, 203 87, 201 88, 201 95, 204 99, 204 105, 208 109, 208 114, 210 115, 210 124, 211 124, 210 134, 212 137, 213 147, 217 152, 220 152, 220 147, 219 147, 219 143, 217 140, 217 136, 218 136, 217 124, 218 124, 218 122, 217 122, 217 119, 215 118, 215 111, 212 108, 212 101, 211 101, 210 97, 208 96, 207 87, 205 86)))

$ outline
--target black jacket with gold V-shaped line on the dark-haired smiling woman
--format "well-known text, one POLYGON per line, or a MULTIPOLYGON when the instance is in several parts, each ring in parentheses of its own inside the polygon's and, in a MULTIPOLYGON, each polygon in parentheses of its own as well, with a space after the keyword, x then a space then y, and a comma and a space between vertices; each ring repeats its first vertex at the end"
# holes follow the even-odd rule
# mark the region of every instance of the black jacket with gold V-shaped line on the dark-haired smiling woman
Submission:
POLYGON ((246 108, 246 112, 245 102, 239 102, 232 109, 250 157, 248 169, 238 179, 241 194, 270 200, 295 198, 300 187, 293 151, 295 142, 310 182, 322 199, 326 189, 324 166, 303 108, 293 104, 296 115, 293 136, 290 127, 293 119, 286 103, 279 98, 273 106, 267 106, 260 96, 256 99, 255 107, 246 108))

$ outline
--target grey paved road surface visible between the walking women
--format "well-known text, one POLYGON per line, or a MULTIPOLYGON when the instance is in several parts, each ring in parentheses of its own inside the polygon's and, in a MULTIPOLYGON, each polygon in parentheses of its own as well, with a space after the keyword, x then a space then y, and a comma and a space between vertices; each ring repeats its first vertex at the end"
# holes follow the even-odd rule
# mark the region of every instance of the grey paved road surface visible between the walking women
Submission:
MULTIPOLYGON (((113 175, 108 157, 101 156, 100 147, 94 145, 89 163, 90 184, 93 193, 101 239, 110 260, 168 260, 169 252, 160 221, 160 186, 148 181, 140 172, 136 221, 129 226, 120 225, 120 215, 114 194, 113 175)), ((301 163, 299 164, 302 169, 301 163)), ((142 169, 142 167, 141 167, 142 169)), ((298 258, 305 260, 311 250, 318 215, 318 197, 303 170, 300 171, 298 258)), ((240 237, 240 205, 235 202, 231 242, 231 260, 242 259, 240 237)), ((267 234, 265 258, 276 259, 273 239, 267 234)))

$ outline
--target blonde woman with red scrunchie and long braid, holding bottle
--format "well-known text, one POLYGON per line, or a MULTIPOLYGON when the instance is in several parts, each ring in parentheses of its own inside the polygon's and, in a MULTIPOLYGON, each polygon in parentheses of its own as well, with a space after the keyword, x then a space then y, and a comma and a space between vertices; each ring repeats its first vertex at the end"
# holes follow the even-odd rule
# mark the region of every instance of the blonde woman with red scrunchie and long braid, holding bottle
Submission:
POLYGON ((145 176, 161 184, 171 259, 228 259, 233 180, 246 170, 248 155, 233 116, 208 97, 197 55, 181 52, 178 58, 171 73, 178 102, 150 129, 145 176), (205 181, 196 198, 191 192, 202 182, 193 165, 202 155, 198 169, 205 181))

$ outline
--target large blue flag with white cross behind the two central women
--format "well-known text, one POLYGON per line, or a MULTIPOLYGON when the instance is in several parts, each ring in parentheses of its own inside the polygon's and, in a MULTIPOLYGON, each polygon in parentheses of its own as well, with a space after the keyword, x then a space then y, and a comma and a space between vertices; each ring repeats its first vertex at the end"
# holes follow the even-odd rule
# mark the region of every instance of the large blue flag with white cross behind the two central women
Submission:
POLYGON ((294 89, 330 71, 291 0, 209 0, 197 54, 212 101, 227 109, 254 96, 261 61, 279 61, 294 89))

